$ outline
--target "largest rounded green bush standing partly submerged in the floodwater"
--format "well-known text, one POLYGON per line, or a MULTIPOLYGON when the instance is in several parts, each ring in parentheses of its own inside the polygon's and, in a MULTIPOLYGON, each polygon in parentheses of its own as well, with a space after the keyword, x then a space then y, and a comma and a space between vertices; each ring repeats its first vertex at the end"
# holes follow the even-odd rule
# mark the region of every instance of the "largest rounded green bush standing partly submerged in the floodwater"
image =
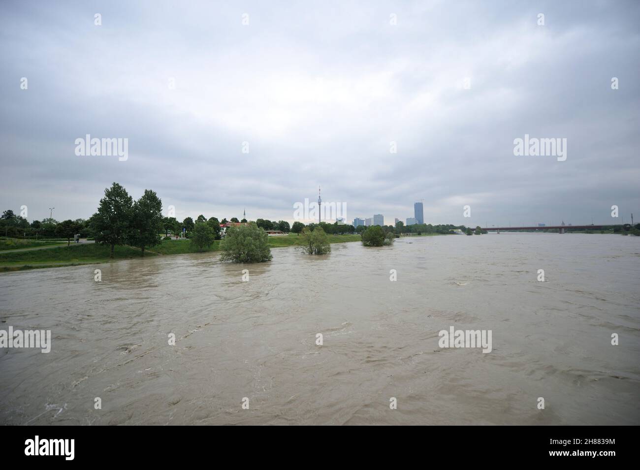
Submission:
POLYGON ((271 260, 269 235, 255 223, 227 228, 221 249, 223 261, 260 263, 271 260))

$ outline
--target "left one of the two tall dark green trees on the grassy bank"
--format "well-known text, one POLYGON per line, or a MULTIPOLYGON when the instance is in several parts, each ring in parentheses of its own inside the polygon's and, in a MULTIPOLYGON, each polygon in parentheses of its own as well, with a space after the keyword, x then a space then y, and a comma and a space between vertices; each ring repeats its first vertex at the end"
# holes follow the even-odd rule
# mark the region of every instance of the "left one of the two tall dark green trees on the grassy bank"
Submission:
POLYGON ((131 228, 133 201, 124 187, 114 183, 104 190, 92 225, 97 243, 111 246, 111 258, 116 245, 124 245, 131 228))

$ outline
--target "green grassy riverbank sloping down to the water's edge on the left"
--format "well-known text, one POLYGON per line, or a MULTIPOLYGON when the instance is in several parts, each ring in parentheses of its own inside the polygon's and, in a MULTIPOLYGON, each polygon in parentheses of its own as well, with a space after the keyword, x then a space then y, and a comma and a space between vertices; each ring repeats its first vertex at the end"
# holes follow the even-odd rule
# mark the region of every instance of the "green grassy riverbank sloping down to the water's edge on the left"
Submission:
MULTIPOLYGON (((328 235, 331 243, 359 242, 360 235, 328 235)), ((269 237, 271 248, 294 246, 297 235, 269 237)), ((71 244, 50 249, 30 251, 0 251, 0 272, 22 269, 38 269, 48 267, 74 266, 80 264, 108 263, 110 247, 100 244, 71 244)), ((220 240, 216 240, 206 251, 220 251, 220 240)), ((147 256, 184 255, 196 253, 189 240, 163 240, 158 246, 145 250, 147 256)), ((140 249, 130 246, 116 246, 115 260, 140 258, 140 249)))

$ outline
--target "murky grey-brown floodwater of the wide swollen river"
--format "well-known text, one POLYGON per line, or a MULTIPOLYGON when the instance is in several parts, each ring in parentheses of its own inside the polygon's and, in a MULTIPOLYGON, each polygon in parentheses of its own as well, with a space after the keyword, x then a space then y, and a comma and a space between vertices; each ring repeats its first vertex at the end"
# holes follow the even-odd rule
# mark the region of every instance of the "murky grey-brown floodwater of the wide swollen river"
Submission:
POLYGON ((640 239, 500 233, 332 250, 1 274, 0 329, 50 329, 52 345, 0 349, 0 423, 640 424, 640 239), (491 330, 492 351, 440 348, 451 326, 491 330))

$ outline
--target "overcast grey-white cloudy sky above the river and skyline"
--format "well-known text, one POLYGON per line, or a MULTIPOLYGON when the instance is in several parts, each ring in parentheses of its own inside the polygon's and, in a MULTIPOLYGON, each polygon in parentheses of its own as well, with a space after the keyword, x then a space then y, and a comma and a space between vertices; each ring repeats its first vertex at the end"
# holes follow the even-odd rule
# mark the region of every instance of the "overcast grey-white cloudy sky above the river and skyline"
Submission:
POLYGON ((180 220, 292 221, 318 185, 349 221, 640 220, 637 1, 3 0, 0 35, 0 210, 29 221, 113 182, 180 220), (86 134, 127 161, 77 156, 86 134), (516 157, 525 134, 566 161, 516 157))

